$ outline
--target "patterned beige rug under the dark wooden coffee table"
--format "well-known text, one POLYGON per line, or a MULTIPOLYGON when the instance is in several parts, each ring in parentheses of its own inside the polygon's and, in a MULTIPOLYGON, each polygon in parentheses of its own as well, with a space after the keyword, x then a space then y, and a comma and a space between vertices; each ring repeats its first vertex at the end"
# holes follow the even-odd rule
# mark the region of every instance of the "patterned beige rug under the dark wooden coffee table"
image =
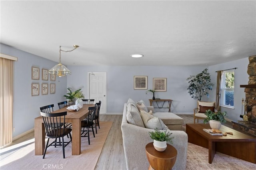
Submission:
POLYGON ((208 149, 188 143, 186 170, 256 170, 256 164, 216 152, 208 163, 208 149))

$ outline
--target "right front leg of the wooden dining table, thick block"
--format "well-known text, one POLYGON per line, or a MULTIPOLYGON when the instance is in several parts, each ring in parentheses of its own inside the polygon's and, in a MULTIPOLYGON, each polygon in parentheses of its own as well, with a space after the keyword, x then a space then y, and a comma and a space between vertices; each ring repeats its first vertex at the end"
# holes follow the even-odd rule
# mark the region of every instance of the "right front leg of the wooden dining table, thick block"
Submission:
POLYGON ((81 121, 79 119, 72 120, 72 155, 81 153, 81 121))

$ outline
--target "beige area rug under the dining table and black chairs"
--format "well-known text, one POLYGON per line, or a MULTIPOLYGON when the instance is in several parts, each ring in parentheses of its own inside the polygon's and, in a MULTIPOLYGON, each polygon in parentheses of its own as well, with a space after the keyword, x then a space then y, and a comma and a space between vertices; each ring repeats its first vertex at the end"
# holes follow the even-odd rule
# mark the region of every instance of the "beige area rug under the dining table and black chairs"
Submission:
POLYGON ((81 154, 72 155, 71 143, 65 147, 65 159, 62 155, 62 147, 47 149, 45 158, 42 155, 34 155, 34 143, 17 150, 0 162, 1 170, 93 170, 100 156, 103 145, 113 122, 100 122, 100 129, 95 133, 95 138, 90 132, 90 145, 88 138, 81 138, 81 154))

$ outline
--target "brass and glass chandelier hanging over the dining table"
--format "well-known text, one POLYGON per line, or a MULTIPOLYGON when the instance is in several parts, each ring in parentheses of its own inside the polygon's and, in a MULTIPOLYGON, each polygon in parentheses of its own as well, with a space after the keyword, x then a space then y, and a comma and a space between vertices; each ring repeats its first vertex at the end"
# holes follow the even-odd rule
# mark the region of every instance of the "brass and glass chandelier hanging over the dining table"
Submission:
MULTIPOLYGON (((64 50, 61 49, 61 46, 60 46, 60 52, 61 51, 71 52, 71 51, 74 51, 75 49, 77 49, 79 46, 78 45, 73 45, 73 47, 74 47, 74 49, 72 49, 72 50, 64 51, 64 50)), ((59 77, 66 76, 67 74, 71 74, 71 71, 68 70, 68 68, 66 68, 66 66, 61 64, 60 59, 59 59, 59 62, 60 62, 59 64, 55 65, 54 67, 52 67, 49 70, 49 74, 53 74, 54 76, 59 76, 59 77)))

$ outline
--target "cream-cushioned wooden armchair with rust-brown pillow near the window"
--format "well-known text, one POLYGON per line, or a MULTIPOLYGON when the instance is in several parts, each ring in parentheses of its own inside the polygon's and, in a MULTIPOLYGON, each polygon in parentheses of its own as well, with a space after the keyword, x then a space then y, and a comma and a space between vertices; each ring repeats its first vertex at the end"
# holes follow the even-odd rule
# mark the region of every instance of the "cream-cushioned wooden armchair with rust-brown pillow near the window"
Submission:
POLYGON ((215 111, 215 102, 200 102, 197 101, 197 107, 194 108, 194 123, 198 123, 198 119, 205 119, 205 111, 210 109, 211 111, 215 111))

